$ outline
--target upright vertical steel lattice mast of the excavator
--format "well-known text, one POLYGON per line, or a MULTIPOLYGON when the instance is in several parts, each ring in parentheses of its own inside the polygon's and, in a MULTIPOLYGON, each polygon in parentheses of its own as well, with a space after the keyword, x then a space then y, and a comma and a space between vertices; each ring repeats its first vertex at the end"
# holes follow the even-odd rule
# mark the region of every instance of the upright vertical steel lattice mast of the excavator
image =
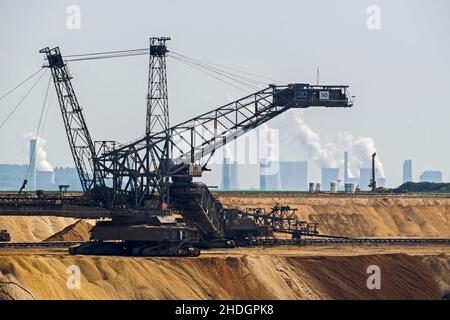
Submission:
POLYGON ((166 41, 167 37, 150 38, 150 63, 147 94, 146 134, 162 132, 169 128, 169 103, 167 99, 166 41))

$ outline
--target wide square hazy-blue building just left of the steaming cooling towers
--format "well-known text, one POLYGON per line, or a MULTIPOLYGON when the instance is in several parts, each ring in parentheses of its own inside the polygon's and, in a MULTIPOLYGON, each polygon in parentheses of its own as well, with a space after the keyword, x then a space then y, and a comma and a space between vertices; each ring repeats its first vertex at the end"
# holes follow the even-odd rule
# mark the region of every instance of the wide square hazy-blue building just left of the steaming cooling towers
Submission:
POLYGON ((281 161, 280 162, 281 190, 308 190, 308 162, 281 161))

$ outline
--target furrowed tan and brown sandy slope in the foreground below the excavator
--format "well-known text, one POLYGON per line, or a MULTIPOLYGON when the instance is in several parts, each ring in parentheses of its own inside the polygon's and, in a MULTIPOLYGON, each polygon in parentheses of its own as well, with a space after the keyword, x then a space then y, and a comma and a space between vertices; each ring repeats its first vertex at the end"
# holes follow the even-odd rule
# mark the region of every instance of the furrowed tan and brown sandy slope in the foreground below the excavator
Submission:
MULTIPOLYGON (((435 256, 426 257, 436 263, 435 256)), ((441 256, 444 263, 443 256, 441 256)), ((448 264, 448 256, 446 257, 448 264)), ((422 256, 204 254, 199 258, 0 255, 3 299, 441 299, 422 256), (67 287, 69 266, 80 289, 67 287), (380 290, 366 286, 369 265, 382 272, 380 290)), ((444 281, 444 280, 442 280, 444 281)))

